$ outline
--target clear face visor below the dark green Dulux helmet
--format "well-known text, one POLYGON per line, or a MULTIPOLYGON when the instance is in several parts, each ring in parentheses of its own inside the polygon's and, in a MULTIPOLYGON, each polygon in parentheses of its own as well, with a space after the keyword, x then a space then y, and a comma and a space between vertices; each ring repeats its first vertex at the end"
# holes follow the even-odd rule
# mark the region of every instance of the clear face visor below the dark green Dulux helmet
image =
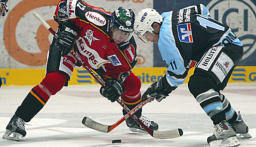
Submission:
MULTIPOLYGON (((126 28, 125 28, 126 29, 126 28)), ((132 32, 125 32, 118 29, 115 25, 112 26, 111 36, 115 43, 120 44, 122 42, 128 42, 133 34, 132 32)))

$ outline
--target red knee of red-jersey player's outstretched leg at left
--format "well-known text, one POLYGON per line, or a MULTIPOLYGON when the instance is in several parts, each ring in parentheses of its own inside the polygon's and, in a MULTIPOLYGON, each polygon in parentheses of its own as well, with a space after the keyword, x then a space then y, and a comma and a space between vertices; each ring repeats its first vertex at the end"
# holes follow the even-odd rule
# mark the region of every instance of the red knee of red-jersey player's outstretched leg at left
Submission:
POLYGON ((64 74, 59 72, 51 72, 45 76, 41 84, 43 84, 52 95, 55 95, 62 89, 66 80, 67 77, 64 74))

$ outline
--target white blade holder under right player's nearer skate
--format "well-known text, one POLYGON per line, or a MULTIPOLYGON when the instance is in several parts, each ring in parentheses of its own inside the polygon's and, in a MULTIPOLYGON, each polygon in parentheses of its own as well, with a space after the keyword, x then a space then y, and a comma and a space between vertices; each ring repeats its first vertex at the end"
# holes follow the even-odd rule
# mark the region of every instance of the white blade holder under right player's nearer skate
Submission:
POLYGON ((236 136, 230 137, 227 140, 216 140, 209 143, 210 147, 238 147, 240 142, 237 140, 236 136))

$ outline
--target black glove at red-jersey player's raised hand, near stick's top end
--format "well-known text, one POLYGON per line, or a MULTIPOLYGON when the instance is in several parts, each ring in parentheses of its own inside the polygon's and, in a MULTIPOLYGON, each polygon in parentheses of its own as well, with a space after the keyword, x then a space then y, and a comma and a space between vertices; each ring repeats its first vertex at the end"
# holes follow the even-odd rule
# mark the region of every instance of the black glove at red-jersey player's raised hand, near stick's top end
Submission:
POLYGON ((58 34, 58 39, 55 41, 54 45, 61 51, 61 55, 67 55, 70 50, 74 47, 77 31, 76 26, 71 22, 66 22, 62 24, 60 32, 58 34))

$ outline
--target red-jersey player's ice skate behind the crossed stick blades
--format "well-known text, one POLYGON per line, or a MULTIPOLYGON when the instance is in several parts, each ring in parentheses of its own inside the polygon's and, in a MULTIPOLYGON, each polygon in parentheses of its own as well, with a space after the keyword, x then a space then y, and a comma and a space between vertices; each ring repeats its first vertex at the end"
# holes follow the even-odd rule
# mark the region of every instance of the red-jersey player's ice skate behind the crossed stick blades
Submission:
MULTIPOLYGON (((141 122, 143 122, 143 124, 145 126, 147 126, 149 129, 151 130, 158 130, 158 125, 157 123, 150 121, 149 119, 147 119, 144 116, 140 116, 139 120, 141 120, 141 122)), ((129 130, 131 132, 140 132, 140 133, 146 133, 146 130, 144 130, 136 121, 132 121, 132 122, 128 122, 126 121, 127 126, 129 127, 129 130)))

